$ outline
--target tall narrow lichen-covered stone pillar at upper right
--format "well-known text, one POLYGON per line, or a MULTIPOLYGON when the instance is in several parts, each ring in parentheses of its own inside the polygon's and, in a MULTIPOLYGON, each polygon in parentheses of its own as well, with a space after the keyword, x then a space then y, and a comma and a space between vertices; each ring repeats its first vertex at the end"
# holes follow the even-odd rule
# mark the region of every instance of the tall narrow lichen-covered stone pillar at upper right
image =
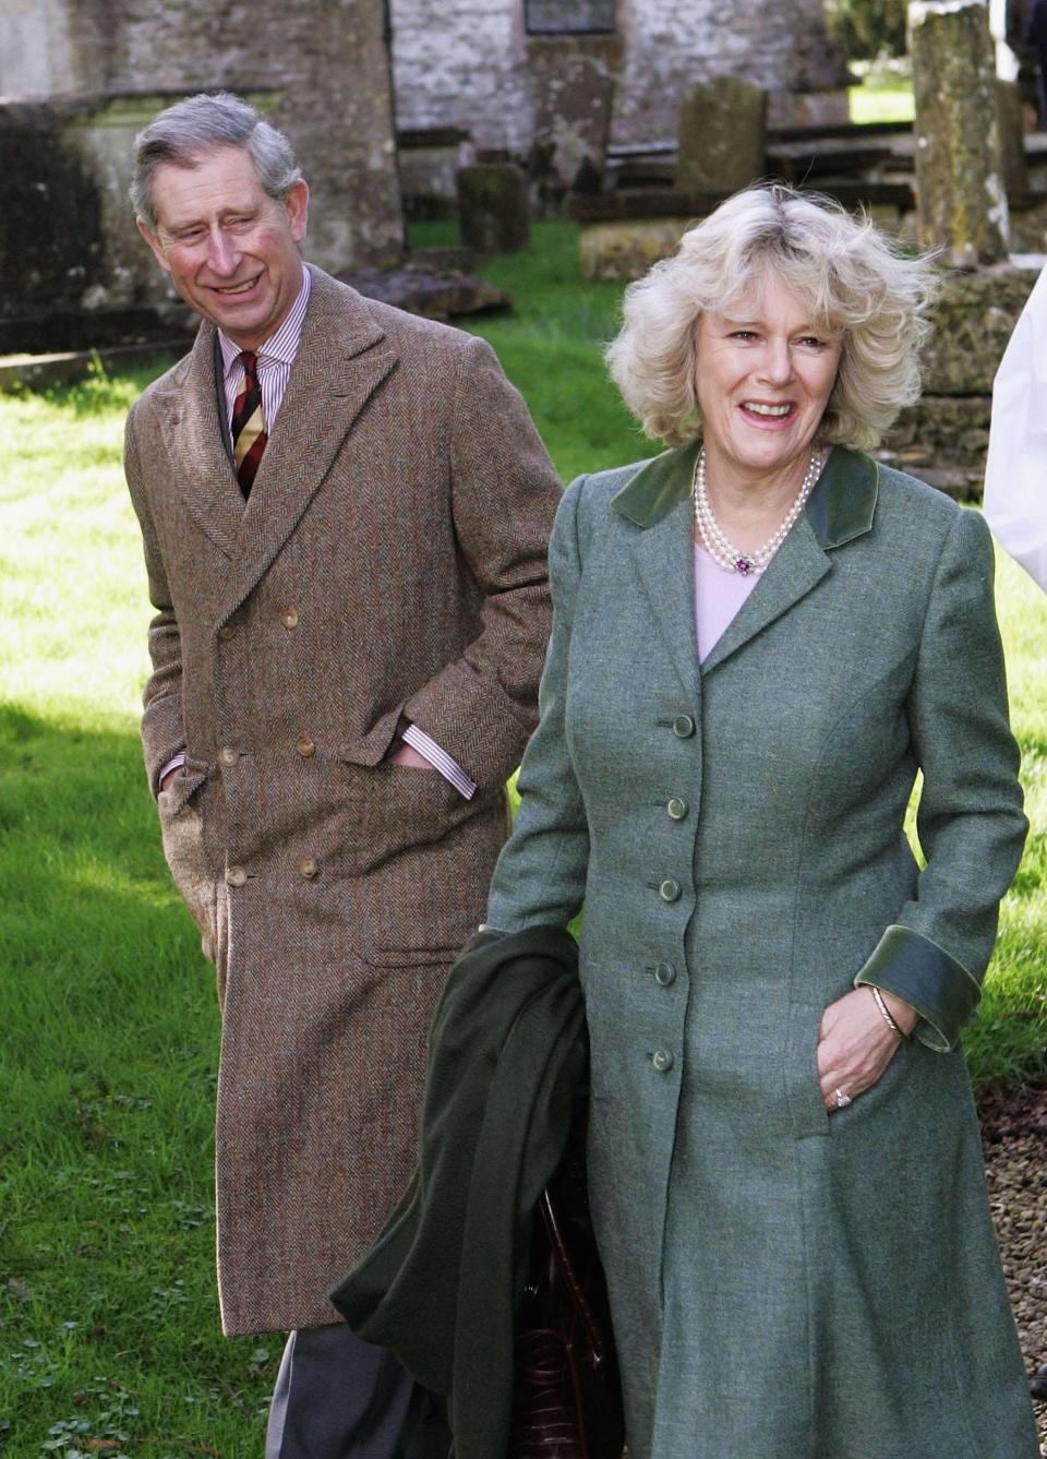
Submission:
POLYGON ((952 268, 1008 254, 996 63, 981 0, 911 0, 916 198, 920 245, 952 268))

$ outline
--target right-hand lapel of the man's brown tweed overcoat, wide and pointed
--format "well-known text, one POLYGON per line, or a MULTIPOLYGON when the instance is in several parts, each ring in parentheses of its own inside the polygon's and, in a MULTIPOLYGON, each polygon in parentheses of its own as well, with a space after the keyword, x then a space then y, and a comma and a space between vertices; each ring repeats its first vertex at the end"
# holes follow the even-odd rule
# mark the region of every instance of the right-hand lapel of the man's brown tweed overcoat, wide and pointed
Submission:
POLYGON ((297 359, 242 514, 216 623, 235 613, 264 576, 395 363, 397 353, 366 302, 314 268, 297 359))

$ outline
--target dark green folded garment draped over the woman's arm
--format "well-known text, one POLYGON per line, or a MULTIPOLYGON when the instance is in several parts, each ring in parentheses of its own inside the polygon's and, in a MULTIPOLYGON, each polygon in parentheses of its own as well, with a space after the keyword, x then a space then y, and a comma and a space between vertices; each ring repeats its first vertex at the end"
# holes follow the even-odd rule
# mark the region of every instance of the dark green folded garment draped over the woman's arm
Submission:
POLYGON ((365 1341, 449 1399, 456 1459, 502 1459, 531 1221, 586 1068, 577 948, 531 926, 474 944, 430 1033, 419 1166, 331 1293, 365 1341))

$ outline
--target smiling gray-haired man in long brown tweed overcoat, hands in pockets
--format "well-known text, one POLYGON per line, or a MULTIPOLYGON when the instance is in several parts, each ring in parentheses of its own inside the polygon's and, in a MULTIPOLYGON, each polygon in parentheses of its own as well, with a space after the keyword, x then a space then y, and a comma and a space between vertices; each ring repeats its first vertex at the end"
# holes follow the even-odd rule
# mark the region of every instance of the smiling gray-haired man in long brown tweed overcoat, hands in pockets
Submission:
POLYGON ((430 1014, 535 721, 558 483, 489 346, 302 264, 306 184, 238 98, 160 112, 133 201, 204 320, 125 470, 146 766, 223 1007, 223 1326, 292 1329, 270 1459, 443 1459, 429 1396, 325 1293, 411 1170, 430 1014))

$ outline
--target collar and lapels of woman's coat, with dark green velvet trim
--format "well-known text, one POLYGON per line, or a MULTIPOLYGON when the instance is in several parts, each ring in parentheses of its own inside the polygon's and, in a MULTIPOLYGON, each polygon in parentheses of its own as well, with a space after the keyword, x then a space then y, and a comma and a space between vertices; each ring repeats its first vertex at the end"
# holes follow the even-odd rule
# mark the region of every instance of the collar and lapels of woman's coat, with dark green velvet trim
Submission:
POLYGON ((872 528, 878 490, 875 461, 833 449, 806 511, 698 671, 691 483, 700 448, 693 441, 655 457, 611 500, 618 515, 640 528, 633 537, 633 559, 681 681, 696 702, 700 677, 803 598, 831 570, 833 549, 872 528))

